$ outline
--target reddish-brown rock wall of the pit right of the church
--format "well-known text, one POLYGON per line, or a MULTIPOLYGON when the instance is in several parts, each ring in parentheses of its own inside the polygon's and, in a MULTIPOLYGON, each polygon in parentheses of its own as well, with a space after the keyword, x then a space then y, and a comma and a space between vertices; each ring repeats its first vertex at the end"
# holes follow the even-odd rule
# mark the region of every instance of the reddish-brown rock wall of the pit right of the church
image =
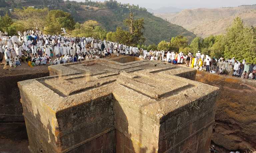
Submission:
POLYGON ((198 72, 196 80, 220 88, 212 141, 227 150, 256 147, 256 81, 198 72))

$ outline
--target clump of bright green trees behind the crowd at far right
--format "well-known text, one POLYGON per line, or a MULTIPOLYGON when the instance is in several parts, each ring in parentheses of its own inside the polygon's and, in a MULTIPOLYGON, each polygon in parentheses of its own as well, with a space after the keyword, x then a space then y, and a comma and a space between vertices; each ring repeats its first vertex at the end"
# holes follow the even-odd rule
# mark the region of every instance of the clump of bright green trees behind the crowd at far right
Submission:
POLYGON ((240 17, 236 17, 233 24, 227 28, 226 34, 209 36, 205 39, 194 38, 190 44, 192 53, 201 51, 211 57, 246 60, 256 63, 256 30, 244 25, 240 17))

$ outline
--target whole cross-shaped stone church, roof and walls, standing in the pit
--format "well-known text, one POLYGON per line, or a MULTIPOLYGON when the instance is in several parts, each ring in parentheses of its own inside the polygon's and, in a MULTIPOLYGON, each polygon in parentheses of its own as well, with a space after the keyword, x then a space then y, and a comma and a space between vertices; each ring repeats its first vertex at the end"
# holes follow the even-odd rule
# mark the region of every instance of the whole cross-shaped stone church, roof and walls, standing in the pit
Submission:
POLYGON ((124 58, 18 82, 30 151, 207 152, 218 88, 193 81, 193 69, 124 58))

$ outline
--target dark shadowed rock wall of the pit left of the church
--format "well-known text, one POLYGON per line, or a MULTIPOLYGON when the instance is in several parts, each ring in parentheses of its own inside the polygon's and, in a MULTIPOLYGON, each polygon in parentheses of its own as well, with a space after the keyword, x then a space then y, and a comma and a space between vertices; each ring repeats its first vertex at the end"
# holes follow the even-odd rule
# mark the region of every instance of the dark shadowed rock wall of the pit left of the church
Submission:
POLYGON ((17 82, 44 76, 49 76, 49 73, 0 76, 0 139, 27 139, 17 82))

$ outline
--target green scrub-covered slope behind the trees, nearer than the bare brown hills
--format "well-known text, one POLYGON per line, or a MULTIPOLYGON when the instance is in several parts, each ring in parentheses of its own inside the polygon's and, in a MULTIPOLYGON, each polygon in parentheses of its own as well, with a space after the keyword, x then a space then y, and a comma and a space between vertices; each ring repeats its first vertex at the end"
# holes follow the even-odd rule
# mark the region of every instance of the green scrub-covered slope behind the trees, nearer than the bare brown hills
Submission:
MULTIPOLYGON (((74 19, 83 23, 87 20, 98 21, 107 31, 115 31, 116 27, 123 27, 123 20, 128 17, 129 9, 124 6, 110 6, 104 7, 103 3, 95 4, 95 2, 75 2, 63 0, 7 0, 9 7, 13 2, 17 2, 16 6, 34 6, 36 8, 49 7, 50 9, 61 9, 70 12, 74 19)), ((137 6, 134 6, 135 8, 137 6)), ((158 44, 161 40, 169 40, 169 38, 183 35, 191 42, 196 37, 192 32, 187 31, 181 26, 170 24, 167 21, 152 15, 144 8, 137 8, 134 10, 136 18, 145 19, 144 36, 146 38, 145 44, 158 44)))

